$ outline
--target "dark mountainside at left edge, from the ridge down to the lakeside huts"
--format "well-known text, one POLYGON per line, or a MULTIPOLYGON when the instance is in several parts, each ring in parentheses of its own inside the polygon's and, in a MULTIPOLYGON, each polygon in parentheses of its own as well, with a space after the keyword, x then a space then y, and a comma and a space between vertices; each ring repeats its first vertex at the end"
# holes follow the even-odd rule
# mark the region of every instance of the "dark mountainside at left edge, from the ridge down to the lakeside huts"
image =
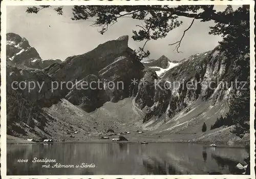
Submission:
POLYGON ((7 63, 6 68, 7 133, 24 137, 26 132, 37 130, 35 136, 47 136, 44 128, 47 121, 54 121, 54 118, 45 113, 42 107, 57 103, 63 97, 65 88, 62 91, 51 91, 52 81, 56 79, 39 69, 15 66, 7 63))

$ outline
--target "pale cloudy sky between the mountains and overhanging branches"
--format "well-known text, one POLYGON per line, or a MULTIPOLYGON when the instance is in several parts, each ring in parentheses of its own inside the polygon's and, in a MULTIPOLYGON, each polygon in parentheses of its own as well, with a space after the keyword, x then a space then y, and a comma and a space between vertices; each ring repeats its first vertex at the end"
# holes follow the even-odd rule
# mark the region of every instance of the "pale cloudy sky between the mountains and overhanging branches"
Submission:
MULTIPOLYGON (((222 11, 226 6, 216 6, 217 11, 222 11)), ((120 18, 118 23, 101 35, 99 27, 92 27, 92 20, 71 20, 70 6, 63 8, 63 15, 57 15, 53 8, 44 9, 37 14, 26 13, 27 6, 7 7, 7 33, 12 32, 25 37, 30 46, 34 47, 40 57, 46 59, 65 60, 69 56, 79 55, 93 50, 99 44, 114 40, 122 35, 129 35, 129 47, 138 49, 143 42, 136 42, 131 37, 132 30, 138 29, 142 21, 132 18, 120 18)), ((174 51, 174 43, 183 35, 183 31, 189 27, 192 19, 179 17, 183 24, 168 33, 165 38, 149 41, 145 50, 150 50, 150 59, 158 59, 165 55, 170 60, 182 60, 196 53, 202 53, 214 49, 222 40, 220 36, 209 35, 209 27, 214 26, 214 21, 200 22, 195 20, 193 26, 186 32, 180 46, 180 51, 174 51)))

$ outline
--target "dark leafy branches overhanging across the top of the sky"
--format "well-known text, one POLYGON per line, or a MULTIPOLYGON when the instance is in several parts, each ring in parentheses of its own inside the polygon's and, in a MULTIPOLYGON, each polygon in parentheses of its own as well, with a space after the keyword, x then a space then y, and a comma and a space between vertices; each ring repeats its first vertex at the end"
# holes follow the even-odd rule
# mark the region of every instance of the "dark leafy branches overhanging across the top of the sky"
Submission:
MULTIPOLYGON (((50 6, 28 7, 27 13, 38 13, 40 10, 50 6)), ((63 14, 63 6, 54 8, 59 14, 63 14)), ((224 12, 216 12, 214 5, 186 5, 186 6, 74 6, 72 8, 72 20, 93 19, 93 26, 100 27, 99 33, 104 34, 109 27, 117 23, 119 18, 131 17, 142 21, 137 25, 140 30, 133 30, 132 38, 135 41, 144 41, 143 47, 137 50, 137 54, 142 58, 150 55, 149 51, 144 51, 145 44, 149 40, 164 38, 173 29, 180 27, 182 21, 179 16, 193 18, 190 26, 184 31, 181 40, 171 43, 176 44, 175 50, 179 53, 181 41, 185 32, 193 25, 195 19, 201 21, 214 20, 216 26, 211 27, 211 34, 223 35, 225 41, 229 41, 236 36, 236 46, 233 49, 243 49, 244 44, 248 42, 249 28, 249 8, 243 6, 233 10, 228 6, 224 12), (241 33, 240 30, 243 30, 241 33), (245 31, 245 32, 244 32, 245 31), (240 43, 239 40, 243 40, 240 43)), ((230 47, 229 43, 221 42, 223 47, 230 47)), ((247 50, 247 49, 246 49, 247 50)))

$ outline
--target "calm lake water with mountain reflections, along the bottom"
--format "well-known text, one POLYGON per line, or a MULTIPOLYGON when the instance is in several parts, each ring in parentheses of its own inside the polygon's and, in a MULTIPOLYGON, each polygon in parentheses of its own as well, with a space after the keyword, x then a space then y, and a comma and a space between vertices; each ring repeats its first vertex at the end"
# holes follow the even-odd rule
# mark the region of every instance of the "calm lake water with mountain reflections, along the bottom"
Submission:
POLYGON ((7 145, 7 175, 232 174, 247 155, 242 147, 187 143, 7 145), (56 162, 44 168, 34 158, 56 162), (52 168, 56 163, 74 168, 52 168))

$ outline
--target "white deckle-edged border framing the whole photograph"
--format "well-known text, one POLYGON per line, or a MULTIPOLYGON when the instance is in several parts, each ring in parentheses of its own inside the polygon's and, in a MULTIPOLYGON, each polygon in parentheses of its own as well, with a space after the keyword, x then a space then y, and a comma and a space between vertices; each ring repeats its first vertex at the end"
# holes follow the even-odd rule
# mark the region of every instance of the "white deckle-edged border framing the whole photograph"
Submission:
POLYGON ((2 1, 1 3, 1 176, 2 178, 255 178, 254 1, 2 1), (6 153, 6 7, 74 5, 250 5, 250 175, 7 175, 6 153))

